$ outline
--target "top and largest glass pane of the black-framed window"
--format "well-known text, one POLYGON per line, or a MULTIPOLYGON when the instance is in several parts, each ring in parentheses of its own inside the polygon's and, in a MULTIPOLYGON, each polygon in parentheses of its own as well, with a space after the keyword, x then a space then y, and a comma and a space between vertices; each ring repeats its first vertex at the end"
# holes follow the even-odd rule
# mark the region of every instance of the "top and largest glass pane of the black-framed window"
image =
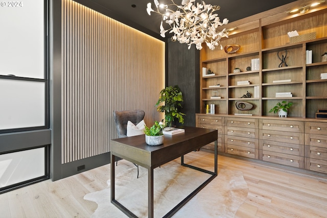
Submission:
POLYGON ((44 1, 1 6, 0 75, 44 79, 44 1))

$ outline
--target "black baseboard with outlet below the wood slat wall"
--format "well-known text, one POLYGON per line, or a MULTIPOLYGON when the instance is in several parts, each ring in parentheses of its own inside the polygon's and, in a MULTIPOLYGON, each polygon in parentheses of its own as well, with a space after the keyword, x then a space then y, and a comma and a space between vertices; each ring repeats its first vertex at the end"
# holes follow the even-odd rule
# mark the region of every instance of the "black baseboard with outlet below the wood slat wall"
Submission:
POLYGON ((110 163, 110 152, 61 165, 61 179, 110 163))

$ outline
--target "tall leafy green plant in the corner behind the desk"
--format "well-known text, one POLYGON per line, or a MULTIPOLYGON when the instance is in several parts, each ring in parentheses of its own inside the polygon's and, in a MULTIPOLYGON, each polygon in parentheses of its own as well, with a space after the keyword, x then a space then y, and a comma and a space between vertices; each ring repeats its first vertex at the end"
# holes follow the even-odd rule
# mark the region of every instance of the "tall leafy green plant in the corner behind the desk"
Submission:
POLYGON ((177 118, 179 123, 184 123, 185 114, 180 112, 182 102, 183 94, 177 85, 168 86, 160 91, 160 97, 155 106, 157 111, 165 113, 165 123, 168 127, 172 126, 174 118, 177 118))

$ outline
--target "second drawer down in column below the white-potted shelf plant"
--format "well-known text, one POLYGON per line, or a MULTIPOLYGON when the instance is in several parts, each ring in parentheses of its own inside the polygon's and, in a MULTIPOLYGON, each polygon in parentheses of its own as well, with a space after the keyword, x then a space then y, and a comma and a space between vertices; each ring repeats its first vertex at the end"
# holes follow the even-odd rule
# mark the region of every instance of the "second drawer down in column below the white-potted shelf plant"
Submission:
POLYGON ((305 134, 296 132, 282 132, 273 130, 260 130, 259 139, 280 141, 293 144, 304 144, 305 134))

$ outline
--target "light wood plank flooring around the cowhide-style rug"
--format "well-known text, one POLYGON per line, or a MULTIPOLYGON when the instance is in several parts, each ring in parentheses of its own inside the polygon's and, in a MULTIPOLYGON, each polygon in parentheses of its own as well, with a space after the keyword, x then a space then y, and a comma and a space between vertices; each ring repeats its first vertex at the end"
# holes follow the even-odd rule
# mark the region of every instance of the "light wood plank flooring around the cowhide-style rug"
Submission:
MULTIPOLYGON (((191 160, 199 166, 211 165, 213 154, 192 152, 185 157, 186 163, 191 160)), ((225 156, 218 156, 219 168, 242 171, 248 185, 248 197, 236 217, 327 217, 326 178, 225 156)), ((110 168, 105 165, 3 193, 0 217, 89 217, 97 204, 83 200, 84 195, 107 187, 109 178, 110 168)))

